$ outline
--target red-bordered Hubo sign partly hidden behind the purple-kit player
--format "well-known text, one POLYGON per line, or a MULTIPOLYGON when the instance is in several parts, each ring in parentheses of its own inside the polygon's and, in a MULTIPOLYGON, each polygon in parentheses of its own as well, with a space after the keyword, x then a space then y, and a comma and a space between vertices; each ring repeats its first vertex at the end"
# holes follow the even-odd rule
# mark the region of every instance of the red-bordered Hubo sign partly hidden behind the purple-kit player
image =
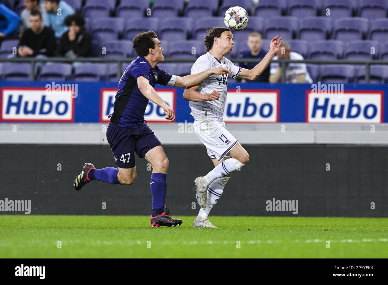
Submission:
MULTIPOLYGON (((155 89, 158 95, 165 101, 171 109, 175 111, 175 90, 174 89, 155 89)), ((109 122, 108 116, 113 113, 114 100, 117 89, 103 88, 101 89, 101 110, 100 121, 109 122)), ((158 105, 149 101, 145 109, 144 119, 147 123, 169 123, 165 119, 165 111, 158 105)))

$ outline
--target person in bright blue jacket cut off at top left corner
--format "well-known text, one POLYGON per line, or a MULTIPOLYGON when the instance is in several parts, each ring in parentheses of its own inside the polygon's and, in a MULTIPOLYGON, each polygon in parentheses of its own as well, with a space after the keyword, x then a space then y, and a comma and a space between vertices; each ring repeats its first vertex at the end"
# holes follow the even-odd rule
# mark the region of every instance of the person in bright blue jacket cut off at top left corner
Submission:
POLYGON ((0 3, 0 44, 3 40, 17 38, 19 22, 19 15, 0 3))

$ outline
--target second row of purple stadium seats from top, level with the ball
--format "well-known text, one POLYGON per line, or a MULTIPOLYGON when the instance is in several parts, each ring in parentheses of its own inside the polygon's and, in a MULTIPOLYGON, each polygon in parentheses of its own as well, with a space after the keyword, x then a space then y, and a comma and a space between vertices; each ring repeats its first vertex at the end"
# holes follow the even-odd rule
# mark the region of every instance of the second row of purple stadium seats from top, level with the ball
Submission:
MULTIPOLYGON (((193 21, 187 17, 171 17, 163 22, 157 18, 121 18, 107 17, 87 19, 87 29, 95 39, 128 39, 143 31, 153 30, 161 40, 203 40, 206 30, 213 26, 224 26, 220 17, 211 17, 193 21)), ((326 40, 334 38, 342 41, 380 40, 388 38, 388 18, 369 21, 361 17, 341 18, 333 21, 331 17, 250 17, 248 26, 235 31, 235 41, 246 41, 252 31, 258 31, 263 38, 280 35, 284 40, 299 38, 302 40, 326 40)))

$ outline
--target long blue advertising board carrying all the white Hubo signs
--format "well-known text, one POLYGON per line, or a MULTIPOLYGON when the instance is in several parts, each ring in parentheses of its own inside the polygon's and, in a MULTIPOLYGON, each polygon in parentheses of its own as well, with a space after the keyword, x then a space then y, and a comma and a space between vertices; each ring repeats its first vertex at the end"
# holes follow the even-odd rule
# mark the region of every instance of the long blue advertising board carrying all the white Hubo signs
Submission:
MULTIPOLYGON (((1 122, 109 123, 117 83, 0 81, 1 122)), ((193 122, 184 88, 157 85, 175 110, 176 123, 193 122)), ((388 123, 388 85, 230 83, 225 107, 229 123, 388 123), (325 89, 326 88, 326 89, 325 89), (331 93, 325 93, 329 89, 331 93)), ((145 119, 166 123, 149 102, 145 119)))

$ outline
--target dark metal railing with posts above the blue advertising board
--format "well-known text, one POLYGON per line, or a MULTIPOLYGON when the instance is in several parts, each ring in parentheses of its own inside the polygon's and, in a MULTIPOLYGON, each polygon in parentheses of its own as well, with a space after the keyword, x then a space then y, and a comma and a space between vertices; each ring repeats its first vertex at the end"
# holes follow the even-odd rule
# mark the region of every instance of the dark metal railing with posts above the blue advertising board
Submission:
MULTIPOLYGON (((121 78, 121 74, 123 73, 121 69, 121 64, 124 62, 131 62, 134 60, 135 57, 127 58, 127 57, 109 57, 109 58, 102 58, 102 57, 88 57, 88 58, 78 58, 78 59, 69 59, 64 57, 47 57, 47 58, 34 58, 34 57, 25 57, 25 58, 0 58, 0 62, 28 62, 31 64, 30 68, 30 79, 35 80, 35 64, 36 62, 99 62, 99 63, 116 63, 117 64, 117 78, 121 78)), ((257 59, 231 59, 232 62, 248 62, 248 63, 257 63, 257 59)), ((190 59, 168 59, 166 58, 163 63, 168 62, 192 62, 193 60, 190 59)), ((350 64, 350 65, 365 65, 365 83, 369 83, 370 77, 371 77, 371 65, 372 64, 386 64, 388 65, 388 60, 346 60, 346 59, 339 59, 339 60, 320 60, 320 59, 304 59, 304 60, 290 60, 290 59, 282 59, 282 60, 272 60, 272 62, 278 62, 282 67, 282 74, 281 74, 281 82, 286 81, 286 67, 290 63, 306 63, 306 64, 350 64)))

